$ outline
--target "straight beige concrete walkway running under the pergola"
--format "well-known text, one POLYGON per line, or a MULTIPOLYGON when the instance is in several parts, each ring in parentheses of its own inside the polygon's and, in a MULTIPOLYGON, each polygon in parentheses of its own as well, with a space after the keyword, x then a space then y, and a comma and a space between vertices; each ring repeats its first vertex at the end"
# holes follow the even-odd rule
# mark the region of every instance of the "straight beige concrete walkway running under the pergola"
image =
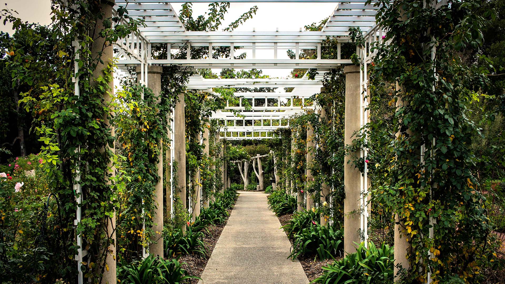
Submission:
POLYGON ((280 227, 266 194, 240 192, 201 276, 203 284, 309 283, 300 262, 287 259, 291 244, 280 227))

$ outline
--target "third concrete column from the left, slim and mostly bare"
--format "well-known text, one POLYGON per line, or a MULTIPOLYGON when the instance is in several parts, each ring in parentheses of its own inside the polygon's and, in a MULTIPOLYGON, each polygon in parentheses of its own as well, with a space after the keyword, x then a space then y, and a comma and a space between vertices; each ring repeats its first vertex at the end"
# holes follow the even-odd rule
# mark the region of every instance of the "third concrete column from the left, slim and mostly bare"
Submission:
MULTIPOLYGON (((187 210, 186 205, 186 124, 184 114, 184 92, 179 93, 174 109, 174 160, 177 162, 177 188, 175 189, 182 210, 187 210)), ((174 169, 175 170, 175 169, 174 169)), ((183 225, 183 230, 186 226, 183 225)))

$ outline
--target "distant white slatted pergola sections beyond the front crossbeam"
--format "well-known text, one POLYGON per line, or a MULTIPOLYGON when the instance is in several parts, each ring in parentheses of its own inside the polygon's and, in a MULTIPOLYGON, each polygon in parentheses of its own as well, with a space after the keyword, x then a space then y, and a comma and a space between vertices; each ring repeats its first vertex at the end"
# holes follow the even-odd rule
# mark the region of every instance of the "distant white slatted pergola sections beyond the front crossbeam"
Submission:
POLYGON ((315 103, 310 98, 321 91, 321 79, 327 70, 318 71, 314 79, 309 79, 307 74, 301 78, 250 79, 204 79, 196 75, 189 79, 186 89, 220 96, 215 88, 293 88, 290 92, 234 92, 236 100, 227 100, 226 107, 211 117, 219 122, 221 139, 273 138, 273 131, 289 128, 289 117, 315 110, 315 103))

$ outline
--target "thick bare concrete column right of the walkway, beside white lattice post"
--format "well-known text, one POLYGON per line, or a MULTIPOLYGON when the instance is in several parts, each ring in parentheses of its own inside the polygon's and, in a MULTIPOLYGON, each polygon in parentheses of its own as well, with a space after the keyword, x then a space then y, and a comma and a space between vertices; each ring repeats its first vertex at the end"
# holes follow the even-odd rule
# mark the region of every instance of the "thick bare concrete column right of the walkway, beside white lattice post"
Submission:
MULTIPOLYGON (((352 133, 361 128, 361 95, 360 95, 360 67, 345 66, 345 145, 352 144, 352 133)), ((360 228, 360 199, 362 190, 362 173, 352 163, 347 163, 352 156, 359 157, 360 153, 350 153, 344 158, 344 252, 356 252, 355 243, 361 243, 360 228), (354 213, 353 213, 354 212, 354 213)))

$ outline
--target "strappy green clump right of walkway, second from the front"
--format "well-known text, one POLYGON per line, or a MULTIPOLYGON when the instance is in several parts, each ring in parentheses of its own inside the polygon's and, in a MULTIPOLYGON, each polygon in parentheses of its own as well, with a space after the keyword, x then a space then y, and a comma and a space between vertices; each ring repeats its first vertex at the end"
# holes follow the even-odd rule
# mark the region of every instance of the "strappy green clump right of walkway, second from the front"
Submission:
POLYGON ((333 258, 340 252, 343 235, 332 226, 321 226, 312 221, 310 227, 302 229, 294 235, 293 249, 289 257, 295 259, 298 255, 316 255, 314 259, 333 258))

